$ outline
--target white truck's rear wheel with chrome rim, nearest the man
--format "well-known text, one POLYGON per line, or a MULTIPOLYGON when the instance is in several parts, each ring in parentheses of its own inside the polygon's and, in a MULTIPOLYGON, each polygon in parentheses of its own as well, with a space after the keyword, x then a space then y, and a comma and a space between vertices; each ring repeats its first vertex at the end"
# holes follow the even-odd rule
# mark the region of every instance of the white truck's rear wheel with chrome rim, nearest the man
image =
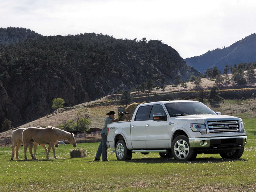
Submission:
POLYGON ((127 149, 124 140, 118 140, 116 143, 116 159, 118 161, 127 161, 132 159, 132 151, 127 149))

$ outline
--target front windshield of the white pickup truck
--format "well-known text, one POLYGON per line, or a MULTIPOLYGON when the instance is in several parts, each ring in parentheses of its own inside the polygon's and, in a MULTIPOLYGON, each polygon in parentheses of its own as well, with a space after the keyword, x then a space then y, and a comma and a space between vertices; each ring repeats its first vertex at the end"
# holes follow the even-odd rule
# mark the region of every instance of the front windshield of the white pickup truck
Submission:
POLYGON ((212 114, 216 113, 200 102, 174 102, 166 103, 165 107, 171 117, 182 115, 212 114))

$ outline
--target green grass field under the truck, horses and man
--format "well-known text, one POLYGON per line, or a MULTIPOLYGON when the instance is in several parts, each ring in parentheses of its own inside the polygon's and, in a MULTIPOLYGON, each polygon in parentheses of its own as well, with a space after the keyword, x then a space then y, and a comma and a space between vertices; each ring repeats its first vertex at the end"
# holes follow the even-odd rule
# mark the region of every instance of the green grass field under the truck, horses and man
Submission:
MULTIPOLYGON (((244 119, 246 131, 256 119, 244 119)), ((50 160, 41 146, 36 161, 11 161, 11 147, 0 148, 0 191, 255 191, 256 136, 248 136, 240 159, 199 154, 194 161, 160 158, 158 153, 135 153, 131 161, 117 161, 108 149, 109 162, 94 162, 99 143, 77 144, 87 157, 70 158, 70 144, 56 148, 50 160)))

